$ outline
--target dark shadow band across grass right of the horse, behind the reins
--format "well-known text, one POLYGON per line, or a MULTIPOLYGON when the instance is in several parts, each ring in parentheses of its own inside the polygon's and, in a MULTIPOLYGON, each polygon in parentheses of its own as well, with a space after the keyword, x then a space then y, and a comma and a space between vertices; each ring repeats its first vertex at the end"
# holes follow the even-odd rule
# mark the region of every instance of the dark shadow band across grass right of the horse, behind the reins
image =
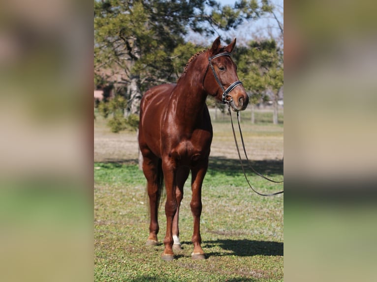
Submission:
MULTIPOLYGON (((283 175, 283 160, 262 160, 250 161, 242 160, 247 174, 254 172, 249 164, 261 174, 281 174, 283 175)), ((239 159, 227 159, 225 157, 210 157, 207 174, 224 173, 226 175, 242 174, 242 168, 239 159)))

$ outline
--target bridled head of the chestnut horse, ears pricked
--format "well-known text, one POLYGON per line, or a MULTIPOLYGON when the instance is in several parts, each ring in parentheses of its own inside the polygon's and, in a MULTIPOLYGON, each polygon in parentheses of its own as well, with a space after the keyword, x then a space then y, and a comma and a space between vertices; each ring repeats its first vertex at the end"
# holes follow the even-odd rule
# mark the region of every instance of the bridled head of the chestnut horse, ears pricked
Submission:
POLYGON ((220 38, 216 38, 208 51, 208 66, 203 78, 203 86, 208 93, 222 103, 228 103, 233 111, 243 111, 249 103, 249 96, 238 80, 237 66, 230 57, 236 38, 221 47, 220 38))

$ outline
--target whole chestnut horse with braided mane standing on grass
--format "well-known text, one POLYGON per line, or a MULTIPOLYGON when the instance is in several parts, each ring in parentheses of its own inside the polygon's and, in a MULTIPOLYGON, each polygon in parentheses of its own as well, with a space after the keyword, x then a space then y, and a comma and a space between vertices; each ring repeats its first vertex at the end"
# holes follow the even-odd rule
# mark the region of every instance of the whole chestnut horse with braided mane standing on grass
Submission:
POLYGON ((139 146, 143 155, 143 172, 147 179, 151 222, 147 245, 157 245, 157 212, 166 187, 166 235, 162 259, 174 259, 174 249, 181 249, 178 215, 183 186, 191 170, 194 231, 193 259, 205 258, 200 246, 201 189, 208 168, 212 142, 212 124, 206 106, 211 95, 228 103, 234 111, 245 110, 249 103, 236 65, 230 57, 236 39, 220 46, 217 38, 207 51, 192 56, 177 84, 149 89, 140 104, 139 146), (224 89, 226 88, 226 90, 224 89))

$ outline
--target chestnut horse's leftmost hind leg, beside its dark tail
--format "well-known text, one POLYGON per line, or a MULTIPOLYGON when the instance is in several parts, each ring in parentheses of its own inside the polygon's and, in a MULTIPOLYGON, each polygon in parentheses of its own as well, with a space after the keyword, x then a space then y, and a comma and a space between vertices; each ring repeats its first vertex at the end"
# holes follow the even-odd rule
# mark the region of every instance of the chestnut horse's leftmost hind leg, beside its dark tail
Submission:
POLYGON ((158 244, 157 233, 158 226, 158 205, 161 196, 160 179, 162 177, 162 170, 160 167, 160 160, 151 155, 143 156, 143 172, 147 179, 147 192, 149 197, 149 208, 151 221, 149 225, 149 236, 146 242, 147 245, 156 246, 158 244))

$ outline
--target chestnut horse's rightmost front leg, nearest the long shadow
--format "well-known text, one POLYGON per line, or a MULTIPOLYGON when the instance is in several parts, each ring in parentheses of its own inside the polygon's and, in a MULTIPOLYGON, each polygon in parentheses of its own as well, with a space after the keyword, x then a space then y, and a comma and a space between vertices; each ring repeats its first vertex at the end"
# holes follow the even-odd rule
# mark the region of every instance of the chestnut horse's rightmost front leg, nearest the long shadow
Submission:
POLYGON ((202 164, 192 168, 192 199, 190 202, 191 212, 194 217, 194 231, 192 234, 192 243, 194 251, 191 254, 192 259, 205 258, 202 247, 200 246, 202 238, 200 236, 200 215, 202 213, 202 184, 208 168, 208 159, 202 164))

